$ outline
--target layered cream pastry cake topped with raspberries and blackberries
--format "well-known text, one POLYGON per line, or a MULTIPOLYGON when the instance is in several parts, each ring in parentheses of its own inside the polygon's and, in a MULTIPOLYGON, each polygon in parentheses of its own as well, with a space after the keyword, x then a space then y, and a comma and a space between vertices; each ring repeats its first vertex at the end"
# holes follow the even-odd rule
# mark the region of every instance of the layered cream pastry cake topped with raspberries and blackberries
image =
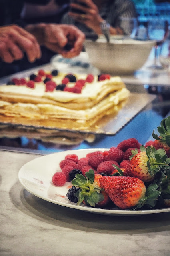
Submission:
POLYGON ((103 75, 98 81, 98 76, 88 75, 87 78, 87 75, 77 74, 73 76, 76 82, 68 82, 63 80, 66 74, 50 76, 50 72, 46 72, 41 75, 31 82, 28 78, 21 82, 15 80, 16 84, 24 85, 11 82, 0 86, 2 122, 87 130, 106 114, 116 112, 129 95, 120 77, 103 75), (51 80, 45 80, 47 73, 51 80))

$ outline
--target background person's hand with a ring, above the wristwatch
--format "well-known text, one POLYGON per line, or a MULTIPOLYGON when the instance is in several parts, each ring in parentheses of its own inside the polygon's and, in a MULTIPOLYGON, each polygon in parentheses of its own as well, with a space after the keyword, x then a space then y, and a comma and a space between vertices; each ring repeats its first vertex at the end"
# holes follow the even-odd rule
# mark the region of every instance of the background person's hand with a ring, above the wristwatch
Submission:
POLYGON ((70 7, 81 10, 85 14, 78 14, 72 12, 71 10, 68 14, 72 16, 74 20, 83 23, 87 27, 94 30, 97 34, 101 34, 100 23, 103 21, 103 19, 99 14, 96 4, 94 4, 92 0, 78 0, 78 2, 80 2, 80 4, 71 3, 70 7), (85 4, 87 7, 82 6, 81 3, 85 4))

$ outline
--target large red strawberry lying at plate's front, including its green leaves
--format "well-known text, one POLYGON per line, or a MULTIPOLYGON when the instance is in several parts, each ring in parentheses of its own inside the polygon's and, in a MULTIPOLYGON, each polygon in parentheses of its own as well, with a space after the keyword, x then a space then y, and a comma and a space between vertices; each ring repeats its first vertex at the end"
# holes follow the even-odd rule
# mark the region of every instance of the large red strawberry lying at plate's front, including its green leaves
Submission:
POLYGON ((140 208, 144 204, 152 208, 160 196, 160 191, 156 190, 158 185, 151 184, 146 190, 144 182, 134 177, 102 176, 99 182, 114 204, 122 210, 140 208))

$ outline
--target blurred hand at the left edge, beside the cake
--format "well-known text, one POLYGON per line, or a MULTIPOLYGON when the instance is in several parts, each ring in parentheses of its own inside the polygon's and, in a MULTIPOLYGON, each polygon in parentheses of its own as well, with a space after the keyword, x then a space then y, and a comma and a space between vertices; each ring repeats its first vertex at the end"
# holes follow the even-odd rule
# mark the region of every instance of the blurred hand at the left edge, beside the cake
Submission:
POLYGON ((24 54, 30 62, 41 56, 40 46, 36 38, 17 25, 0 27, 0 58, 7 63, 20 60, 24 54))

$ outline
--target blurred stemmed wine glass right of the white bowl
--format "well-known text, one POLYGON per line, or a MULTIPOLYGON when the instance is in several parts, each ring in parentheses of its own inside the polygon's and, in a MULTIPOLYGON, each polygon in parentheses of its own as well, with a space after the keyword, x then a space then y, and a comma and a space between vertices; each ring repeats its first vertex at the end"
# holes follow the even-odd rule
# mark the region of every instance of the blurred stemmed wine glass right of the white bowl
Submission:
POLYGON ((154 46, 154 64, 149 68, 163 69, 163 66, 159 61, 159 51, 160 46, 168 36, 168 21, 161 18, 152 18, 148 20, 147 33, 150 40, 156 40, 154 46))

